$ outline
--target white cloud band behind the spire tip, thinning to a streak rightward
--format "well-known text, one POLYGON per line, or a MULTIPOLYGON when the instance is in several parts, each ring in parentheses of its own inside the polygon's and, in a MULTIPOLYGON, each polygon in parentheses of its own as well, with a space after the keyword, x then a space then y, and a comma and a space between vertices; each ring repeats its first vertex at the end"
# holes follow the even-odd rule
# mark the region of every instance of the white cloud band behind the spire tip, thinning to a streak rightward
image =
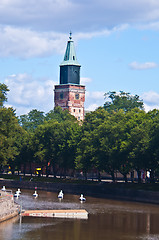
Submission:
MULTIPOLYGON (((127 25, 105 29, 96 32, 75 33, 73 38, 77 43, 80 39, 108 36, 120 32, 127 25)), ((30 28, 0 25, 0 57, 15 56, 19 58, 44 57, 55 53, 64 54, 68 34, 55 31, 39 32, 30 28)))

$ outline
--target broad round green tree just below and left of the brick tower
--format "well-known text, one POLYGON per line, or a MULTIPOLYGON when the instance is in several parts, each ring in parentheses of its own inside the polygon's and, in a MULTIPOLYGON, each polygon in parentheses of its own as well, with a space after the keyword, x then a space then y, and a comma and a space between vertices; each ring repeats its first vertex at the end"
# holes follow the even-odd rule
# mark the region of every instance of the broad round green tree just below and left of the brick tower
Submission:
POLYGON ((58 170, 74 168, 79 125, 74 121, 45 121, 34 133, 35 157, 37 161, 53 167, 54 177, 58 170))

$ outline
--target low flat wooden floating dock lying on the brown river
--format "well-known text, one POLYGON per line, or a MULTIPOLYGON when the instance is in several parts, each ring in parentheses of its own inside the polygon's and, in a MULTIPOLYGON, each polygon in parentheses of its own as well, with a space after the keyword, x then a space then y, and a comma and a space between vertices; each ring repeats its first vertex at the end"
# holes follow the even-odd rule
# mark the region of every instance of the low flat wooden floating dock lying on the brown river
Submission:
POLYGON ((26 210, 21 216, 27 217, 55 217, 55 218, 79 218, 88 219, 88 212, 84 209, 67 210, 26 210))

